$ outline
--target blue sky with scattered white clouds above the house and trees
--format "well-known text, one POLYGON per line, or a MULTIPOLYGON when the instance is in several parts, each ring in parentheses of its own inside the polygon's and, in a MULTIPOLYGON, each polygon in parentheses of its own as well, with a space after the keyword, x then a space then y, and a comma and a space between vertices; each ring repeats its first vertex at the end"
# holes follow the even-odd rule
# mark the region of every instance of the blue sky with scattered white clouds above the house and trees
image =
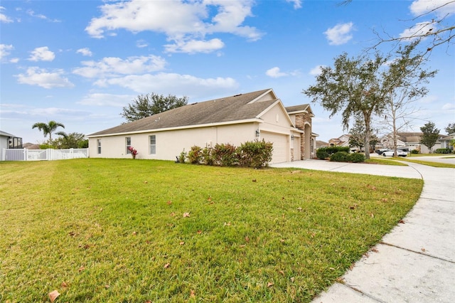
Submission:
MULTIPOLYGON (((446 1, 443 1, 446 2, 446 1)), ((285 106, 309 103, 302 90, 320 65, 357 57, 382 36, 400 36, 441 1, 1 1, 0 129, 43 142, 36 122, 90 134, 124 122, 139 94, 187 96, 189 103, 272 88, 285 106)), ((444 8, 454 22, 455 5, 444 8)), ((390 51, 390 43, 378 49, 390 51)), ((439 46, 439 73, 414 130, 455 122, 454 47, 439 46)), ((313 132, 343 134, 341 118, 311 103, 313 132)), ((412 129, 410 129, 412 130, 412 129)))

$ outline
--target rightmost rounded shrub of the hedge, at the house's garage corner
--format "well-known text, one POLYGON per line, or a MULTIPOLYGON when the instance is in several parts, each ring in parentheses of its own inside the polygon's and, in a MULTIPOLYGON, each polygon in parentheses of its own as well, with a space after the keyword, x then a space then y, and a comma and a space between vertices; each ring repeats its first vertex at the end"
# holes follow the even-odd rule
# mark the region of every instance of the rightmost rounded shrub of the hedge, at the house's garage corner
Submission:
POLYGON ((273 143, 262 141, 248 141, 237 147, 237 159, 240 166, 251 166, 256 169, 267 166, 272 161, 273 143))

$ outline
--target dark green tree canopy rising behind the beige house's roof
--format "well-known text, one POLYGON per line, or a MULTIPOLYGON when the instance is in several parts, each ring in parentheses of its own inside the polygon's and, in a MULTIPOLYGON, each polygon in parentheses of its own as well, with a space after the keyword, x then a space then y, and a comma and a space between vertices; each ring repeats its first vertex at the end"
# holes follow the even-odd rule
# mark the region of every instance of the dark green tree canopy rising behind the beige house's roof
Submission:
POLYGON ((187 104, 188 97, 173 95, 165 97, 151 92, 146 95, 138 95, 136 99, 132 100, 132 103, 123 107, 123 112, 120 115, 127 119, 127 122, 133 122, 187 104))

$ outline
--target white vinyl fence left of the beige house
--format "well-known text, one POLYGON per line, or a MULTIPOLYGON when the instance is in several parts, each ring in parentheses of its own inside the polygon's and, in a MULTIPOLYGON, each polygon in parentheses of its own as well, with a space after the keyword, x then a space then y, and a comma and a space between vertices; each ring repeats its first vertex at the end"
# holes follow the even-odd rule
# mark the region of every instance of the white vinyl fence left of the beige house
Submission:
POLYGON ((88 158, 88 149, 1 149, 1 161, 40 161, 88 158))

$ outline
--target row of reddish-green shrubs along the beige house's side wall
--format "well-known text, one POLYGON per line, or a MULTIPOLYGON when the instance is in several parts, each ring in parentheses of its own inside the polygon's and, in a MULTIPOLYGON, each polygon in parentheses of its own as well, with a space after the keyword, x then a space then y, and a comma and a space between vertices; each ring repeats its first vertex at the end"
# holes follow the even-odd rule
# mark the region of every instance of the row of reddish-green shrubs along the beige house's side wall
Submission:
POLYGON ((193 146, 186 154, 182 151, 178 162, 219 166, 247 166, 257 169, 272 161, 273 143, 262 141, 245 142, 240 147, 232 144, 216 144, 215 147, 193 146))

